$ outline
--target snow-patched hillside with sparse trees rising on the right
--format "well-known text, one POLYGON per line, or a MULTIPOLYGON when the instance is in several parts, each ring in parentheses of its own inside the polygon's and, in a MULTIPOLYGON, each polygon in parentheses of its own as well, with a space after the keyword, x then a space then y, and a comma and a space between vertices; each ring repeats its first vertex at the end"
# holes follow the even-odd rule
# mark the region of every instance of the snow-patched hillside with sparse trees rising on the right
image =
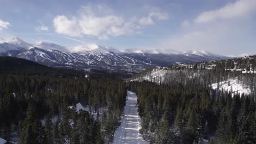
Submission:
POLYGON ((256 87, 256 56, 232 58, 222 61, 179 63, 170 67, 156 67, 132 76, 131 81, 151 81, 155 83, 186 83, 186 79, 205 79, 213 89, 231 93, 254 93, 256 87), (183 75, 182 79, 177 76, 183 75), (208 77, 208 78, 206 78, 208 77))

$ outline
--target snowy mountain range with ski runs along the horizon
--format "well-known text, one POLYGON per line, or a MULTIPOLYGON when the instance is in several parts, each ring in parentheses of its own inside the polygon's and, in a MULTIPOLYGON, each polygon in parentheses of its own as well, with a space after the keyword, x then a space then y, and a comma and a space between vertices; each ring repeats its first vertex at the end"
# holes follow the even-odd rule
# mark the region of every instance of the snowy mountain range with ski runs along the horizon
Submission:
POLYGON ((123 49, 97 44, 65 47, 52 43, 29 44, 20 38, 0 39, 0 56, 25 58, 50 67, 141 71, 177 62, 217 61, 229 57, 206 51, 123 49))

